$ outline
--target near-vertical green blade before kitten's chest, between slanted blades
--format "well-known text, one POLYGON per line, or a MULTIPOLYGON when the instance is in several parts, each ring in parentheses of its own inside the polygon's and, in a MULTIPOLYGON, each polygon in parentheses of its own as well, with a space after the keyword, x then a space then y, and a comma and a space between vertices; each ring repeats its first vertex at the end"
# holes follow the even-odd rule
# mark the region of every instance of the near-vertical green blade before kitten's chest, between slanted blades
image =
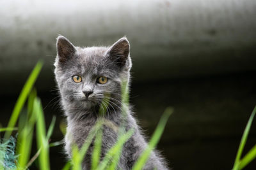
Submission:
POLYGON ((96 134, 93 153, 92 153, 92 169, 96 169, 99 161, 100 161, 100 153, 101 153, 101 145, 102 145, 102 128, 96 134))

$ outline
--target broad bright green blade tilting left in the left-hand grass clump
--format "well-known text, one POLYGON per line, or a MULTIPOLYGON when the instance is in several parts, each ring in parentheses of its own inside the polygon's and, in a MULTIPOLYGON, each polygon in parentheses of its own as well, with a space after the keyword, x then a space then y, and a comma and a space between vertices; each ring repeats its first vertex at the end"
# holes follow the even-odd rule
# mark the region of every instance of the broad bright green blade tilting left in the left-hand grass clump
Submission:
POLYGON ((36 141, 38 149, 41 149, 39 155, 39 165, 41 170, 50 169, 49 161, 49 144, 45 134, 45 121, 40 99, 36 98, 34 103, 34 111, 37 114, 36 119, 36 141))

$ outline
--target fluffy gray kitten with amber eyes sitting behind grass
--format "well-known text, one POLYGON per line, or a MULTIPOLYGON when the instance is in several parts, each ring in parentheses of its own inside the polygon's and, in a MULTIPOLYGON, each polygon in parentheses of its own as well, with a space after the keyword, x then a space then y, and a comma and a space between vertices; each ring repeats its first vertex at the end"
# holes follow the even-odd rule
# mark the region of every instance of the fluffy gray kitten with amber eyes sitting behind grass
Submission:
MULTIPOLYGON (((110 47, 93 46, 81 48, 72 45, 67 38, 58 36, 57 57, 54 63, 55 76, 61 95, 61 104, 67 116, 67 134, 65 150, 69 157, 74 143, 81 148, 99 118, 104 117, 102 153, 104 157, 118 138, 113 127, 121 127, 125 122, 125 131, 134 129, 134 134, 125 143, 117 169, 132 169, 140 154, 147 148, 147 142, 140 132, 140 127, 132 116, 129 106, 122 102, 122 83, 128 88, 130 69, 129 41, 121 38, 110 47), (109 96, 106 96, 109 94, 109 96), (100 104, 109 99, 106 115, 100 116, 100 104), (127 108, 126 116, 122 114, 127 108), (110 124, 110 125, 109 125, 110 124)), ((90 169, 93 143, 83 160, 83 169, 90 169)), ((164 160, 156 151, 143 169, 168 169, 164 160)))

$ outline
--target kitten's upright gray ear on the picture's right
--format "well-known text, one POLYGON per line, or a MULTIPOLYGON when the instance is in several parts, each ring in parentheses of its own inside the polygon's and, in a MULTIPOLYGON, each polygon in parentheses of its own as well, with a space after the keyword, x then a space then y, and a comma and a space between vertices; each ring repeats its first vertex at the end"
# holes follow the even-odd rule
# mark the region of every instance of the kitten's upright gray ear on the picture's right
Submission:
POLYGON ((129 57, 130 44, 127 38, 118 39, 108 50, 108 57, 120 68, 127 66, 131 68, 131 59, 129 57))

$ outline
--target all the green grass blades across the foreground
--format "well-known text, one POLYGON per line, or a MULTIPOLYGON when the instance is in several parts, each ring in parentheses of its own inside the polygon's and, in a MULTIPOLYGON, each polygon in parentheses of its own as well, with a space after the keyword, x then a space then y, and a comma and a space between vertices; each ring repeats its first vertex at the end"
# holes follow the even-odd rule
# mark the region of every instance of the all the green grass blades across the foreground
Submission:
MULTIPOLYGON (((52 122, 48 128, 45 127, 44 112, 42 110, 42 104, 40 99, 36 96, 36 90, 33 89, 33 85, 42 69, 42 62, 38 62, 29 75, 20 96, 13 109, 10 121, 7 127, 0 128, 0 132, 5 132, 4 139, 0 143, 0 169, 28 169, 36 159, 38 159, 38 169, 47 170, 50 169, 50 155, 49 150, 51 146, 58 146, 61 142, 49 143, 52 131, 54 129, 54 124, 56 117, 52 118, 52 122), (27 106, 24 104, 27 101, 27 106), (25 109, 26 108, 26 109, 25 109), (22 111, 23 110, 23 111, 22 111), (17 124, 19 119, 19 124, 17 124), (36 131, 35 131, 36 129, 36 131), (17 146, 15 148, 15 139, 11 136, 12 132, 18 132, 17 135, 17 146), (33 140, 33 134, 35 131, 37 149, 35 155, 31 155, 31 146, 33 140)), ((128 94, 127 83, 122 85, 122 109, 127 111, 127 104, 129 104, 129 94, 128 94)), ((104 104, 100 108, 100 115, 106 113, 106 107, 108 107, 108 96, 104 101, 104 104)), ((253 146, 252 150, 244 155, 241 159, 241 154, 243 152, 244 145, 252 124, 253 117, 256 113, 256 107, 246 125, 244 130, 243 138, 241 139, 241 144, 237 152, 237 157, 233 170, 243 169, 247 164, 249 164, 256 157, 256 145, 253 146)), ((156 127, 152 138, 148 143, 148 147, 141 153, 139 159, 134 164, 133 170, 142 169, 148 160, 148 157, 152 150, 156 147, 161 134, 163 134, 164 127, 168 120, 168 117, 172 114, 172 108, 167 108, 163 116, 161 117, 159 124, 156 127)), ((125 116, 125 115, 124 115, 125 116)), ((106 121, 103 117, 99 118, 94 127, 90 130, 86 141, 83 146, 79 149, 76 145, 72 147, 72 158, 67 164, 63 165, 63 170, 76 169, 81 170, 81 163, 83 162, 84 156, 88 152, 88 148, 94 142, 93 152, 92 152, 92 169, 109 169, 114 170, 118 166, 118 161, 122 153, 122 148, 124 143, 131 138, 134 133, 134 129, 129 129, 125 131, 125 124, 121 127, 115 127, 111 122, 106 121), (114 131, 118 132, 118 138, 115 145, 113 145, 105 155, 105 157, 100 160, 101 146, 102 146, 102 128, 103 125, 108 125, 113 128, 114 131)), ((68 135, 68 134, 67 134, 68 135)), ((157 169, 157 167, 156 167, 157 169)))

